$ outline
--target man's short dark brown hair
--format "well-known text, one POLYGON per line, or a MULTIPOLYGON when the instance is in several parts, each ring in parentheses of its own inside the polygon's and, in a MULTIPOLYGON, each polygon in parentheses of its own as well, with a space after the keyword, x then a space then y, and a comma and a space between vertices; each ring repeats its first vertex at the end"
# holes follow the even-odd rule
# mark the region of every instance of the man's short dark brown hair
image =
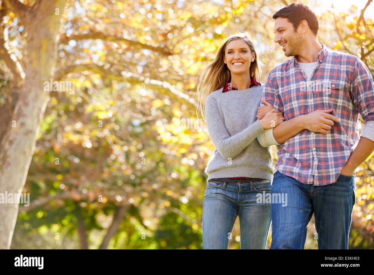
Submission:
POLYGON ((283 9, 274 13, 273 19, 278 17, 287 18, 287 20, 294 26, 294 31, 300 25, 302 20, 308 22, 310 30, 317 36, 318 33, 318 19, 316 14, 306 5, 300 2, 292 3, 283 9))

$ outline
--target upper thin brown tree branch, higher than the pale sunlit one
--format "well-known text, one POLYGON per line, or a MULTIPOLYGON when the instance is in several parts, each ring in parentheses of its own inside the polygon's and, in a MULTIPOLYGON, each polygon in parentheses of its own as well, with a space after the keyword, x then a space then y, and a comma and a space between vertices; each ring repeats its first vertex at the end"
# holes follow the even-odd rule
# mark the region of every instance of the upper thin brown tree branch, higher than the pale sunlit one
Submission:
POLYGON ((172 52, 166 47, 150 46, 147 44, 140 43, 138 41, 126 39, 119 35, 103 33, 102 31, 90 31, 89 33, 72 34, 70 36, 67 36, 66 34, 61 34, 60 40, 58 43, 65 44, 65 43, 68 43, 70 40, 84 40, 84 39, 101 39, 105 41, 124 42, 129 46, 135 46, 135 47, 140 46, 142 49, 148 49, 154 52, 159 52, 162 55, 172 55, 172 52))

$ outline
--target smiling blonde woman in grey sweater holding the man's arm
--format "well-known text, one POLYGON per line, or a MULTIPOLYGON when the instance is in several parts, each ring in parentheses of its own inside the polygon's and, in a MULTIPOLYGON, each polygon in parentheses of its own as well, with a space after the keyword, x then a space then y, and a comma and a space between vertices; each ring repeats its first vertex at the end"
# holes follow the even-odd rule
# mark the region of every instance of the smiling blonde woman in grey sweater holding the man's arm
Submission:
POLYGON ((271 204, 262 198, 270 193, 273 168, 269 148, 256 137, 284 118, 274 109, 256 118, 261 67, 248 33, 242 32, 223 43, 200 76, 197 111, 216 147, 205 170, 203 249, 227 249, 237 216, 240 248, 266 247, 271 204))

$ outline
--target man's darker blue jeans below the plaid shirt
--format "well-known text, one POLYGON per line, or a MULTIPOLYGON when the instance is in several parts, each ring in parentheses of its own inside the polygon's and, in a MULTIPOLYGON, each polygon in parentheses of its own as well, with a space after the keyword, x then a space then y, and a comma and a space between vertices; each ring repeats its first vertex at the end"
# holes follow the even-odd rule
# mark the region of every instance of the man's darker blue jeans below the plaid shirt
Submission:
POLYGON ((303 249, 313 213, 318 249, 348 249, 355 186, 355 175, 339 175, 334 183, 314 186, 275 172, 272 195, 287 194, 287 206, 272 202, 270 249, 303 249))

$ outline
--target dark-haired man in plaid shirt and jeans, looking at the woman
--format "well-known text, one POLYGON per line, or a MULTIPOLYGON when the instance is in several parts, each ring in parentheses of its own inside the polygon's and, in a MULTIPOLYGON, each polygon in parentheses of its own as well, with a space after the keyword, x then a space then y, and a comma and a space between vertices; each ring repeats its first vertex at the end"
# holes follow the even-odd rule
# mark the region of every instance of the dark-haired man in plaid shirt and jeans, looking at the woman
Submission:
POLYGON ((273 105, 285 117, 258 137, 263 146, 281 144, 272 193, 288 195, 286 207, 272 202, 270 248, 303 249, 314 213, 318 248, 347 249, 354 172, 374 150, 373 77, 359 58, 319 44, 317 16, 304 4, 273 19, 274 42, 293 58, 270 71, 257 116, 273 105))

